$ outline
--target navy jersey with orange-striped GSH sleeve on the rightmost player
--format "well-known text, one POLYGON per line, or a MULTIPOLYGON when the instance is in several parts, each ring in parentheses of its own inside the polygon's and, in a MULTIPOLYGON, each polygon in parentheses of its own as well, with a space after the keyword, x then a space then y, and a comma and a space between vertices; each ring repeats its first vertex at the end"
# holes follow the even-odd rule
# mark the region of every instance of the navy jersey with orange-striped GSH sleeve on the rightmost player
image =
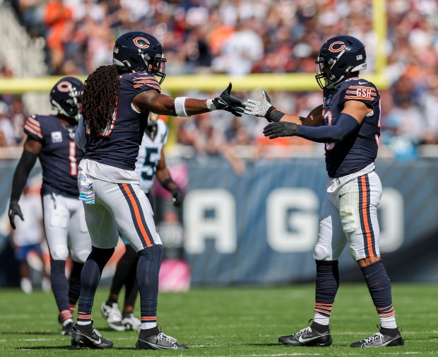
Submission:
POLYGON ((372 108, 359 129, 340 143, 326 143, 326 168, 330 177, 357 172, 374 162, 380 136, 380 94, 373 83, 350 78, 335 90, 324 90, 321 125, 334 125, 347 100, 359 100, 372 108))

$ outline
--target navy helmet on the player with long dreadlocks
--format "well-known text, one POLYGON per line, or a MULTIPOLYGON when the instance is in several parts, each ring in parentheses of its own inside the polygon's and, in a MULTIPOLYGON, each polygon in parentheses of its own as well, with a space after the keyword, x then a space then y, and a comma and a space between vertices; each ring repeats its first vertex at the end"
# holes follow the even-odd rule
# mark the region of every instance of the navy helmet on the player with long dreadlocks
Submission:
POLYGON ((141 31, 125 33, 117 38, 112 54, 112 62, 122 72, 148 71, 164 81, 165 59, 160 41, 153 35, 141 31))

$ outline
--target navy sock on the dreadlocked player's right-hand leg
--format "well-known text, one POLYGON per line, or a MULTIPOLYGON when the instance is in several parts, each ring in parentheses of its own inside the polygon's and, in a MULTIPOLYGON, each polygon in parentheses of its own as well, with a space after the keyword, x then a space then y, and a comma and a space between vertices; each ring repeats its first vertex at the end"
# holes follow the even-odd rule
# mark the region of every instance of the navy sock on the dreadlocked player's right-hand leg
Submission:
POLYGON ((137 252, 137 283, 140 291, 141 317, 154 322, 157 317, 158 273, 162 261, 162 245, 153 245, 137 252))

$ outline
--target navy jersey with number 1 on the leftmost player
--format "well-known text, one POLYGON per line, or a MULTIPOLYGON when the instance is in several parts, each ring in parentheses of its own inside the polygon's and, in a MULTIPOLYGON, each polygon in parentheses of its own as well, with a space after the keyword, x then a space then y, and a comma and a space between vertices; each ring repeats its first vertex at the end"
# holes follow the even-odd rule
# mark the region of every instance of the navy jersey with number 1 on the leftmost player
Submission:
POLYGON ((32 115, 24 124, 24 131, 42 144, 41 194, 60 194, 79 197, 78 163, 83 152, 74 142, 74 128, 67 128, 56 115, 32 115))

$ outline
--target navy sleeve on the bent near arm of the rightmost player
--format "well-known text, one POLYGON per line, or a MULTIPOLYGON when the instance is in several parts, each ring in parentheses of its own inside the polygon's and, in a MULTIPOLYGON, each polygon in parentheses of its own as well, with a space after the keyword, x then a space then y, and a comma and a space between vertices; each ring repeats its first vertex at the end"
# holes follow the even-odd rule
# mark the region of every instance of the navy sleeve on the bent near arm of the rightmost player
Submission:
POLYGON ((339 143, 358 128, 359 123, 354 117, 341 113, 336 125, 324 125, 321 127, 300 125, 296 135, 316 143, 339 143))

